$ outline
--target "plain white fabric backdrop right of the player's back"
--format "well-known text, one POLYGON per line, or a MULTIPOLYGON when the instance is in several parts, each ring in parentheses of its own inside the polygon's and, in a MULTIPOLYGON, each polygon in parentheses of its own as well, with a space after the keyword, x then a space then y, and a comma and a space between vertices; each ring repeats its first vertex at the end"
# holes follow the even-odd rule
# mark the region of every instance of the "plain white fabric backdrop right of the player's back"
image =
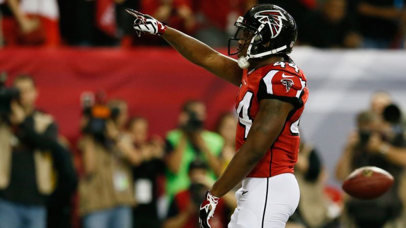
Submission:
POLYGON ((318 148, 328 182, 338 185, 335 165, 355 128, 356 113, 369 108, 371 94, 388 91, 406 109, 406 52, 298 47, 291 57, 305 72, 309 88, 301 137, 318 148))

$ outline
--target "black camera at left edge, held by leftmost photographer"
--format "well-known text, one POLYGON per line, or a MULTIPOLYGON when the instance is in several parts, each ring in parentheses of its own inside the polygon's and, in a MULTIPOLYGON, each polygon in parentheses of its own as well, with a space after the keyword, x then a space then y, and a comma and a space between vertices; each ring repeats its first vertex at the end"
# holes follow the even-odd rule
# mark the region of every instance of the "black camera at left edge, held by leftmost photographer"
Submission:
POLYGON ((0 74, 0 115, 5 116, 11 112, 11 102, 19 98, 19 91, 16 88, 6 87, 7 74, 0 74))

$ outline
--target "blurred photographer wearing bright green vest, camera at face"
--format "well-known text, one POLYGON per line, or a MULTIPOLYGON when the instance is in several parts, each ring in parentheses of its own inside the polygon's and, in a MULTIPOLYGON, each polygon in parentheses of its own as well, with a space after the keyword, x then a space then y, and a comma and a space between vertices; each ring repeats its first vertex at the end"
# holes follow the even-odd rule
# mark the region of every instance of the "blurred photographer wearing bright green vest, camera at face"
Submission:
POLYGON ((223 149, 220 135, 204 130, 206 107, 197 100, 189 100, 182 107, 179 128, 166 136, 166 194, 169 199, 189 185, 187 167, 195 159, 201 159, 210 167, 212 179, 219 176, 222 167, 219 160, 223 149))

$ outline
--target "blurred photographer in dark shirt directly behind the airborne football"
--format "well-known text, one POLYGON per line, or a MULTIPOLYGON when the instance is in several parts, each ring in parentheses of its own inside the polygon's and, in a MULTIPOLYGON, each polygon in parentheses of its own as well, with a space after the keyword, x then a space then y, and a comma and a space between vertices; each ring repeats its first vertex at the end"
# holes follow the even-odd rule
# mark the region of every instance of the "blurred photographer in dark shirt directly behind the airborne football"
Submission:
POLYGON ((394 176, 394 185, 377 199, 347 198, 345 227, 404 227, 400 218, 403 203, 399 181, 406 166, 405 140, 403 134, 394 131, 394 124, 388 119, 388 107, 383 111, 383 118, 371 111, 357 116, 357 132, 347 142, 336 167, 336 177, 343 181, 356 168, 377 166, 394 176))

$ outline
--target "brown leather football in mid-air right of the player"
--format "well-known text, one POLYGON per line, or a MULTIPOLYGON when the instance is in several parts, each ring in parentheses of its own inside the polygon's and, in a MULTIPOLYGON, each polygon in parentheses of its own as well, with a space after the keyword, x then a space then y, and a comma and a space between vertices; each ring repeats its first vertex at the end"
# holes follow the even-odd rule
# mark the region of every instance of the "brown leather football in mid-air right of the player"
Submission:
POLYGON ((373 199, 383 195, 393 184, 393 176, 378 167, 355 169, 343 183, 343 190, 359 199, 373 199))

